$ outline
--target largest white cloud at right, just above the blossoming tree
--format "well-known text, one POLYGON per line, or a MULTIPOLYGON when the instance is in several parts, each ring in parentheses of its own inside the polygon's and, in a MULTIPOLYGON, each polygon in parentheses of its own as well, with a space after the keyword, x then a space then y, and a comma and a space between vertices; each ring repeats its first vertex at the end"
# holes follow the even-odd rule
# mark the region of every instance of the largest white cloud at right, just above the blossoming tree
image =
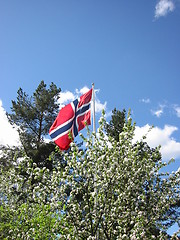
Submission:
POLYGON ((180 142, 177 142, 172 134, 178 130, 175 126, 165 125, 164 128, 154 127, 150 130, 150 125, 136 127, 134 141, 142 139, 147 134, 146 141, 150 147, 161 145, 163 160, 180 157, 180 142), (149 131, 150 130, 150 131, 149 131), (149 132, 148 132, 149 131, 149 132))

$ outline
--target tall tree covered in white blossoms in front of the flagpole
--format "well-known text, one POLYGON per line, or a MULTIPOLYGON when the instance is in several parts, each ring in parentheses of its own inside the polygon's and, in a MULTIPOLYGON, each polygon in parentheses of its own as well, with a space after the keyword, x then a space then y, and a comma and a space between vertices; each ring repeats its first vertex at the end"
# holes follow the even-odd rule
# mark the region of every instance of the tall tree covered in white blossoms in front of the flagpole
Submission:
POLYGON ((84 151, 72 144, 65 154, 60 191, 65 221, 73 226, 69 239, 166 239, 162 217, 179 198, 180 172, 164 177, 159 148, 132 144, 129 116, 118 142, 105 136, 104 117, 99 123, 97 137, 82 136, 84 151))

